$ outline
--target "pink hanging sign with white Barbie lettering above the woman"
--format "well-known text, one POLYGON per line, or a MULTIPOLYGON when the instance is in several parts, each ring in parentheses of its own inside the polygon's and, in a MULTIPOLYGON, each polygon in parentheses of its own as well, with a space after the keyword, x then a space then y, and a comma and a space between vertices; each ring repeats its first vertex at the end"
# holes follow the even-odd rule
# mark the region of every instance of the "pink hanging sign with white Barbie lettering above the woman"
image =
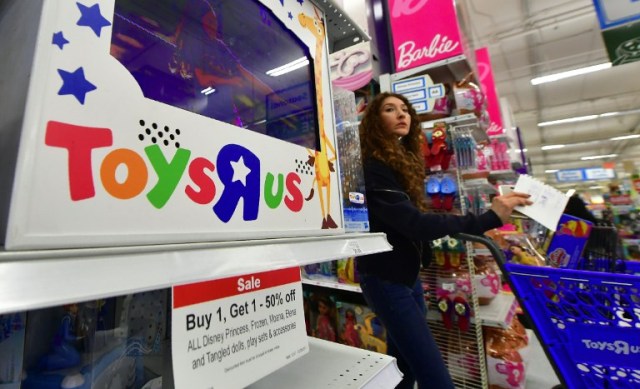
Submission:
POLYGON ((388 0, 395 71, 463 53, 453 0, 388 0))

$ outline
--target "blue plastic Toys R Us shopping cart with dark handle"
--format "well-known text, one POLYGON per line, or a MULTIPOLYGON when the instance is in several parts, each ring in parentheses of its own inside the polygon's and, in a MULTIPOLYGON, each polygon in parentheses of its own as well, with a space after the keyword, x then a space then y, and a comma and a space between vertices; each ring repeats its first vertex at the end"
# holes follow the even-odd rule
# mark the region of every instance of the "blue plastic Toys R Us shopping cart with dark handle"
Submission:
POLYGON ((505 262, 491 251, 568 389, 640 388, 640 276, 505 262))

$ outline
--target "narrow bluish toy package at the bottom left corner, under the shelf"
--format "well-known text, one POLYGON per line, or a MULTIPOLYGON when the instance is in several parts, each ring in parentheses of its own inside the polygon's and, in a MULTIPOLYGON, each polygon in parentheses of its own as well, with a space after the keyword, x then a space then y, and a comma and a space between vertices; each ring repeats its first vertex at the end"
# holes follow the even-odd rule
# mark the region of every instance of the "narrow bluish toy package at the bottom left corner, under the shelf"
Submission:
POLYGON ((0 389, 19 389, 26 314, 0 315, 0 389))

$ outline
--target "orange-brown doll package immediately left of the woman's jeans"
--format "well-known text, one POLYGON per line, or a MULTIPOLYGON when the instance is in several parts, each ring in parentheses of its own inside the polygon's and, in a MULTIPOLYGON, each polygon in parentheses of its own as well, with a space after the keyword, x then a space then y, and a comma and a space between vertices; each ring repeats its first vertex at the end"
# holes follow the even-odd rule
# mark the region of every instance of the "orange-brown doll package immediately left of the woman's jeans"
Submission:
POLYGON ((386 354, 386 331, 371 309, 344 301, 338 301, 336 306, 340 343, 386 354))

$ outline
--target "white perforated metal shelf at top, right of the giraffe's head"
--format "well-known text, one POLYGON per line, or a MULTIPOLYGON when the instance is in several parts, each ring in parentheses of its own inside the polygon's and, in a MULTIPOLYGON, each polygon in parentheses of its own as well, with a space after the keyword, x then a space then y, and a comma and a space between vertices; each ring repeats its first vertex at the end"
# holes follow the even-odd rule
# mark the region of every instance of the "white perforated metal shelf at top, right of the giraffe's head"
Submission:
POLYGON ((334 0, 317 0, 315 4, 326 16, 330 53, 371 40, 334 0))

